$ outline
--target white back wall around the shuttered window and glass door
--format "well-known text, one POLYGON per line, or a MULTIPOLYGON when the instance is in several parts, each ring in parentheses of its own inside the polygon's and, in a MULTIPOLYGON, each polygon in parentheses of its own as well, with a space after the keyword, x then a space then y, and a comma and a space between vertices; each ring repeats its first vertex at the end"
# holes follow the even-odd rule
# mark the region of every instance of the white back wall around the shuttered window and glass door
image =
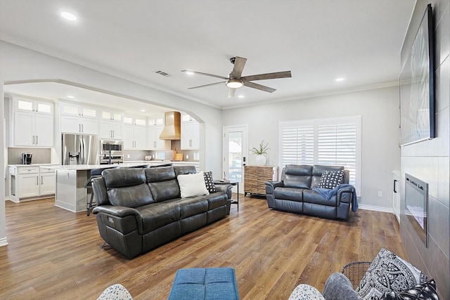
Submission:
MULTIPOLYGON (((392 171, 400 168, 398 86, 224 110, 224 126, 248 124, 249 148, 261 140, 278 165, 279 122, 361 116, 361 200, 364 207, 392 210, 392 171), (383 197, 378 197, 378 191, 383 197)), ((255 156, 248 156, 248 164, 255 156)))

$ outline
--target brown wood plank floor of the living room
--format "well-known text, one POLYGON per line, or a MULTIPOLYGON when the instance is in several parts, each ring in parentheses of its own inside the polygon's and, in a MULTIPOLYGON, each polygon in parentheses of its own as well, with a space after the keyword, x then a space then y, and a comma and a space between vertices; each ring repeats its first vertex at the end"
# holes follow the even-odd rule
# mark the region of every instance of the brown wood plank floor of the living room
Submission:
POLYGON ((176 270, 207 267, 235 268, 240 299, 288 299, 300 283, 322 291, 328 275, 372 261, 380 247, 407 259, 392 214, 359 209, 332 221, 241 196, 225 219, 128 260, 101 249, 94 215, 53 204, 6 201, 0 299, 96 299, 115 283, 134 299, 167 299, 176 270))

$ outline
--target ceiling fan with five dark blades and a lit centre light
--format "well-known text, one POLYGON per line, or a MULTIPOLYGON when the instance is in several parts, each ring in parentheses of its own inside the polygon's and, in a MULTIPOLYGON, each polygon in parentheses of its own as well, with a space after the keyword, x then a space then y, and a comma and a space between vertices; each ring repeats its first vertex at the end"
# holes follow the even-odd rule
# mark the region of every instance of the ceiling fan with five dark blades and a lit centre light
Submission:
POLYGON ((233 71, 231 71, 231 73, 229 74, 228 77, 214 75, 214 74, 208 74, 208 73, 203 73, 203 72, 190 71, 190 70, 181 70, 181 72, 186 72, 186 73, 190 73, 190 74, 199 74, 199 75, 203 75, 203 76, 224 79, 225 81, 214 82, 214 84, 205 84, 203 86, 193 86, 188 89, 198 89, 198 88, 203 88, 205 86, 214 86, 216 84, 226 84, 226 86, 229 87, 228 98, 234 97, 234 93, 236 92, 236 89, 239 89, 241 86, 248 86, 249 88, 252 88, 252 89, 259 89, 261 91, 273 93, 274 91, 276 91, 276 89, 269 88, 269 86, 263 86, 262 84, 255 84, 255 82, 251 82, 251 81, 291 77, 290 71, 257 74, 257 75, 241 77, 240 75, 242 74, 242 71, 244 70, 246 61, 247 61, 247 58, 240 58, 239 56, 230 58, 230 62, 234 66, 233 66, 233 71))

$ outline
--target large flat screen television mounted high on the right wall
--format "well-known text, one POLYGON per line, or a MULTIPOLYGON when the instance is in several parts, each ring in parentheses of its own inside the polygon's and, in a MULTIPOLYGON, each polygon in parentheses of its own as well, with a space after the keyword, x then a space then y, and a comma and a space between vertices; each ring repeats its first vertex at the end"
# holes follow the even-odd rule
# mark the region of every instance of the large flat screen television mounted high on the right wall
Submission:
POLYGON ((400 145, 435 137, 435 46, 428 4, 400 74, 400 145))

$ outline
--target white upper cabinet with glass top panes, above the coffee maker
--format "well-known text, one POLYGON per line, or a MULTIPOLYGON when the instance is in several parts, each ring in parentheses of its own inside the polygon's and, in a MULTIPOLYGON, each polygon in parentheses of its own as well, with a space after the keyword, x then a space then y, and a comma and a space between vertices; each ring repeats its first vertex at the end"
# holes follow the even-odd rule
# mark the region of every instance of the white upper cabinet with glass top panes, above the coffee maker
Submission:
POLYGON ((20 97, 11 103, 11 147, 53 147, 53 103, 20 97))

